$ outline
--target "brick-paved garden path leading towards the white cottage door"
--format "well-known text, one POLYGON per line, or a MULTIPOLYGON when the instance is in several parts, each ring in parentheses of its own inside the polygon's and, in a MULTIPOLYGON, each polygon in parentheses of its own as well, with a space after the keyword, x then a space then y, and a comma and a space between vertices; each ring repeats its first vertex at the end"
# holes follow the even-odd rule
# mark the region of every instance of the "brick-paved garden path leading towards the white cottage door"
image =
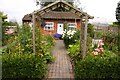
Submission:
POLYGON ((74 74, 70 58, 67 55, 67 50, 62 40, 57 40, 53 49, 55 61, 48 65, 48 80, 49 79, 64 79, 73 80, 74 74))

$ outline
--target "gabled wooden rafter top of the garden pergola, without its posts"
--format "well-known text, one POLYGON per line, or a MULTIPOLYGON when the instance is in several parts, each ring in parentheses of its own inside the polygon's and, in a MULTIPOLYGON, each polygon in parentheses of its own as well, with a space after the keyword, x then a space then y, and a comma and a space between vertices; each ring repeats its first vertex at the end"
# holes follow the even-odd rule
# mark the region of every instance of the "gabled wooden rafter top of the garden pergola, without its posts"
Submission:
MULTIPOLYGON (((54 11, 56 8, 64 8, 67 11, 72 12, 75 15, 78 15, 79 18, 85 19, 85 16, 87 16, 88 19, 93 19, 94 18, 93 16, 90 16, 86 12, 83 12, 82 10, 74 7, 73 5, 67 3, 64 0, 56 0, 54 3, 51 3, 51 4, 45 6, 41 9, 35 10, 33 13, 35 15, 39 15, 41 17, 42 15, 44 15, 47 12, 54 11)), ((31 15, 33 13, 31 13, 31 15)))

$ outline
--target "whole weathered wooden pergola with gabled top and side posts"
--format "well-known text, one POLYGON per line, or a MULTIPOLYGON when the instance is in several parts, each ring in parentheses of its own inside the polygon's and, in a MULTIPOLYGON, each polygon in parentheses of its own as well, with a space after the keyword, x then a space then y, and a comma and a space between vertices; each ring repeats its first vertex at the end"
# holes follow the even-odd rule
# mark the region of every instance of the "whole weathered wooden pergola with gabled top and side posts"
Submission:
POLYGON ((69 3, 63 1, 63 0, 58 0, 54 3, 51 3, 47 5, 46 7, 43 7, 42 9, 34 11, 32 14, 32 21, 33 21, 33 52, 35 54, 35 16, 41 17, 43 14, 46 12, 50 12, 55 10, 56 8, 65 8, 66 10, 76 14, 81 18, 81 28, 80 28, 80 53, 83 55, 83 58, 86 56, 86 42, 87 42, 87 25, 88 25, 88 20, 93 19, 92 16, 88 15, 87 13, 81 11, 78 8, 73 7, 69 3), (85 23, 85 26, 82 24, 85 23))

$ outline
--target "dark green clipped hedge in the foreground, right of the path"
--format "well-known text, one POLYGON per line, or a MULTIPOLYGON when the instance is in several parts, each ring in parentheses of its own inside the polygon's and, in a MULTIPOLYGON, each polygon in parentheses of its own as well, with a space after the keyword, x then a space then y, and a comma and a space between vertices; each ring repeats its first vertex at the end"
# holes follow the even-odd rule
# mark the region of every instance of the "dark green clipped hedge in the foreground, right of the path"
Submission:
POLYGON ((120 57, 111 52, 100 56, 87 56, 75 62, 75 77, 120 78, 120 57))

